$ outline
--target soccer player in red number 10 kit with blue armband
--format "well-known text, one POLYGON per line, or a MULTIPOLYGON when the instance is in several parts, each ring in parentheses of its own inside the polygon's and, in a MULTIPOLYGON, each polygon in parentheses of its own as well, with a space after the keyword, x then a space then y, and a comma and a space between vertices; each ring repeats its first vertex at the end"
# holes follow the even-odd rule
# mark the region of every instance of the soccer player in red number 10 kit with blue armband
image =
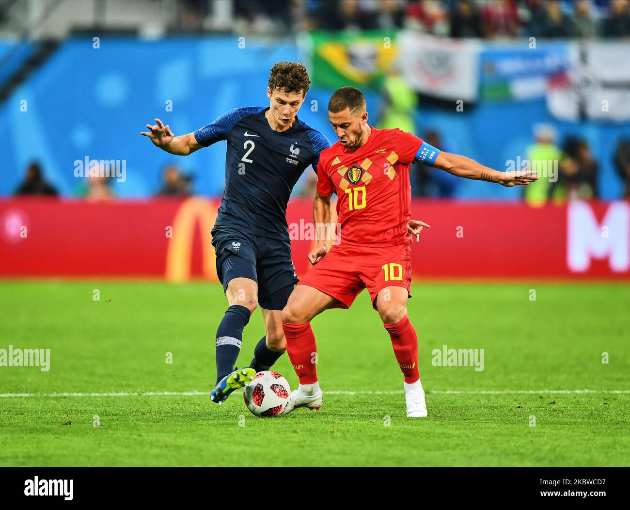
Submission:
MULTIPOLYGON (((323 393, 316 373, 316 342, 311 320, 327 308, 349 308, 367 287, 404 374, 408 417, 427 416, 425 392, 418 373, 418 337, 407 316, 411 297, 410 165, 425 165, 459 177, 527 185, 536 171, 501 172, 472 159, 439 151, 400 129, 375 129, 367 124, 363 93, 353 87, 337 90, 328 103, 328 117, 338 142, 319 155, 313 219, 318 246, 309 253, 314 267, 302 277, 282 311, 287 352, 300 380, 285 412, 297 407, 319 409, 323 393), (337 194, 341 242, 330 253, 323 226, 330 223, 330 198, 337 194)), ((416 230, 421 226, 416 223, 416 230)))

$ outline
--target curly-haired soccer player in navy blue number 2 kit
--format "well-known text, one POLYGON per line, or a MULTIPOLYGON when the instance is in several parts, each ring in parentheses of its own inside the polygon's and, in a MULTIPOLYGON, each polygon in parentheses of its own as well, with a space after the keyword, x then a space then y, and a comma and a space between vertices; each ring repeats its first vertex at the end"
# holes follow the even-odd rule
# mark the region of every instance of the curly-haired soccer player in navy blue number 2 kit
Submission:
POLYGON ((287 202, 302 172, 311 165, 317 172, 319 153, 330 146, 323 134, 297 118, 310 83, 302 64, 279 62, 270 72, 268 107, 235 108, 181 136, 159 119, 140 133, 178 156, 227 141, 226 189, 212 228, 217 274, 229 303, 217 329, 217 383, 210 394, 219 404, 256 372, 270 369, 286 350, 281 315, 297 282, 287 202), (259 304, 265 336, 251 365, 237 369, 243 328, 259 304))

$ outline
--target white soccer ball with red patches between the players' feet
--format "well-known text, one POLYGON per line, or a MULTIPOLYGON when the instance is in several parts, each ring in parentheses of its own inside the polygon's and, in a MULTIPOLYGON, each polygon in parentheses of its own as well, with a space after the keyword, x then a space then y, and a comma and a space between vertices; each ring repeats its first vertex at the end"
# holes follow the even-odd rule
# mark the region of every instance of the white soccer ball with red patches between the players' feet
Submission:
POLYGON ((291 400, 289 381, 277 372, 258 372, 245 386, 243 400, 247 409, 258 417, 278 416, 291 400))

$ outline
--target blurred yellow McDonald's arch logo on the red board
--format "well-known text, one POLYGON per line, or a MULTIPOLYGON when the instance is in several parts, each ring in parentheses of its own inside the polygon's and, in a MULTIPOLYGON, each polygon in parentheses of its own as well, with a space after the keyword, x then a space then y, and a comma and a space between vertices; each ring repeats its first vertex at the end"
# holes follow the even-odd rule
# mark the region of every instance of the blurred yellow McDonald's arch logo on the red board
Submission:
POLYGON ((173 237, 166 250, 166 280, 183 282, 190 279, 195 226, 199 223, 203 257, 203 277, 217 280, 214 248, 210 231, 217 219, 214 202, 192 197, 185 200, 173 220, 173 237))

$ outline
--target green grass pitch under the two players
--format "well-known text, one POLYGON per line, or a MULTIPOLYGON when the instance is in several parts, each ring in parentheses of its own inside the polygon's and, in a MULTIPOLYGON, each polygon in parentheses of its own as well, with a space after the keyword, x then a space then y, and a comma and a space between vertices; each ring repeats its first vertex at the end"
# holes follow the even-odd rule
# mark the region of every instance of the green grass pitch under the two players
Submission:
MULTIPOLYGON (((48 372, 0 367, 0 465, 630 464, 630 287, 417 282, 412 292, 428 418, 406 418, 364 292, 313 321, 321 411, 258 419, 240 392, 222 407, 205 394, 151 395, 210 391, 218 284, 0 282, 0 349, 51 351, 48 372), (484 370, 433 366, 442 345, 484 349, 484 370), (83 395, 51 395, 67 392, 83 395)), ((262 335, 256 311, 239 365, 262 335)), ((275 369, 295 387, 287 356, 275 369)))

